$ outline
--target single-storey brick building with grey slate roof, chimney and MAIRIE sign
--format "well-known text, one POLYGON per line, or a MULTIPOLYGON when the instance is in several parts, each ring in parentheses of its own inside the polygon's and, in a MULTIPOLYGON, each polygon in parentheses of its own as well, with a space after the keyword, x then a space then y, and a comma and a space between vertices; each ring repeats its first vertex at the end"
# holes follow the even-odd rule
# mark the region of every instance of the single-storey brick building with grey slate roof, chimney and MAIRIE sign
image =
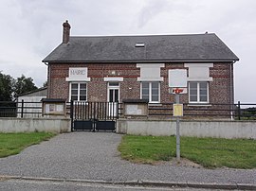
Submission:
POLYGON ((233 103, 233 63, 237 56, 214 33, 150 36, 70 36, 43 60, 48 66, 49 98, 67 101, 148 99, 173 102, 171 69, 187 69, 191 107, 233 103))

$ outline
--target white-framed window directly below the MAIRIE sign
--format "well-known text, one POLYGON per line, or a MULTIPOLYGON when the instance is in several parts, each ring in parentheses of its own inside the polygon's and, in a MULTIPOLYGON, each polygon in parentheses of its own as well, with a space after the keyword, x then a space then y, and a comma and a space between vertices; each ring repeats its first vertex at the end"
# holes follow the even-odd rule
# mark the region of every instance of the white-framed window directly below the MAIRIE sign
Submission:
POLYGON ((71 82, 69 100, 87 101, 87 84, 85 82, 71 82))

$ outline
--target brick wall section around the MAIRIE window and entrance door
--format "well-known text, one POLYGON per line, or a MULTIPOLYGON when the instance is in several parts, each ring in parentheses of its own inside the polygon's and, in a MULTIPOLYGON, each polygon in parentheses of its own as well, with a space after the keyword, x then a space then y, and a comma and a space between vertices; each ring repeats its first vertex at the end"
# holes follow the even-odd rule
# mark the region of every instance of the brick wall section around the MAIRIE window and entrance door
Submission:
POLYGON ((120 98, 139 98, 140 84, 137 78, 140 75, 136 63, 108 64, 108 63, 87 63, 87 64, 49 64, 49 90, 50 98, 65 98, 68 100, 68 78, 69 67, 87 67, 87 77, 91 81, 87 83, 88 101, 107 101, 107 82, 104 78, 123 78, 120 83, 120 98))

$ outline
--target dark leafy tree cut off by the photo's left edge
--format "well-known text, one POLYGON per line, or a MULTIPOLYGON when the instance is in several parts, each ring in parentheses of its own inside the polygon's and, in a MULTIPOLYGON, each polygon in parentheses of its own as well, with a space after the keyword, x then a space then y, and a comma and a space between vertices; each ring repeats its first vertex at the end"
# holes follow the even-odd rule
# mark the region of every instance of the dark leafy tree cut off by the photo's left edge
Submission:
POLYGON ((13 82, 13 78, 0 72, 0 101, 12 100, 13 82))

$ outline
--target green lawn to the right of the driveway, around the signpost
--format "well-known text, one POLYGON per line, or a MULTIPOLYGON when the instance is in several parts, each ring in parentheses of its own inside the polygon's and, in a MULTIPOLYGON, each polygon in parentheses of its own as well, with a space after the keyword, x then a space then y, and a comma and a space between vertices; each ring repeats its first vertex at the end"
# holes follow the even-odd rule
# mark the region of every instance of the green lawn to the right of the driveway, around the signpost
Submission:
MULTIPOLYGON (((205 167, 256 168, 256 140, 180 138, 182 158, 205 167)), ((175 157, 175 137, 124 135, 119 151, 123 159, 154 164, 175 157)))

